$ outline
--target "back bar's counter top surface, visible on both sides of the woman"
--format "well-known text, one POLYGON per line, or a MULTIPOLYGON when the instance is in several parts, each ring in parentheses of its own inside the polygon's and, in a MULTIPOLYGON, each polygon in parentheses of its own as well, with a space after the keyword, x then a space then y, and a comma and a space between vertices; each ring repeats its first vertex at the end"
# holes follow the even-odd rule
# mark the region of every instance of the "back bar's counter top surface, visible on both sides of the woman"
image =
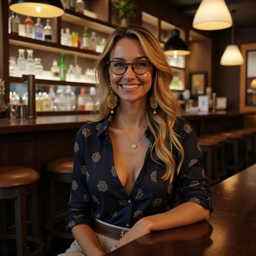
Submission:
MULTIPOLYGON (((222 119, 241 117, 254 113, 240 113, 236 111, 217 111, 209 113, 182 113, 181 116, 188 120, 200 119, 222 119)), ((22 133, 31 131, 50 131, 50 130, 65 130, 79 129, 89 115, 65 115, 65 116, 38 116, 36 119, 26 118, 3 118, 0 119, 0 134, 7 133, 22 133)))

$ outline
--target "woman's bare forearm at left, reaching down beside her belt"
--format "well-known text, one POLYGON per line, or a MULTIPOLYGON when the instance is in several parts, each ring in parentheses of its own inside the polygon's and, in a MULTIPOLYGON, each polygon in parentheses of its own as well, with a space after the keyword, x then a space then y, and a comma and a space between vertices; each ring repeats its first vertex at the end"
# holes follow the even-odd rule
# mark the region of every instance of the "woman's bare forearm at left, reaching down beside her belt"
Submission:
POLYGON ((77 243, 87 256, 101 256, 104 252, 101 250, 96 234, 87 224, 79 224, 72 228, 72 234, 77 243))

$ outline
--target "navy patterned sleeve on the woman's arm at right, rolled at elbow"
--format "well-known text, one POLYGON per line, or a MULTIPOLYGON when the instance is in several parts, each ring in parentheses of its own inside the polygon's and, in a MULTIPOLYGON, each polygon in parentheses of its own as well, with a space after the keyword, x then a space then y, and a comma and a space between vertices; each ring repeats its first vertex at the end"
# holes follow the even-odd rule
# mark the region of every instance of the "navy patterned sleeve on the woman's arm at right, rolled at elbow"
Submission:
POLYGON ((188 121, 182 128, 184 161, 178 175, 178 190, 180 191, 180 204, 194 202, 202 205, 212 212, 211 192, 204 168, 200 163, 203 158, 197 136, 188 121))

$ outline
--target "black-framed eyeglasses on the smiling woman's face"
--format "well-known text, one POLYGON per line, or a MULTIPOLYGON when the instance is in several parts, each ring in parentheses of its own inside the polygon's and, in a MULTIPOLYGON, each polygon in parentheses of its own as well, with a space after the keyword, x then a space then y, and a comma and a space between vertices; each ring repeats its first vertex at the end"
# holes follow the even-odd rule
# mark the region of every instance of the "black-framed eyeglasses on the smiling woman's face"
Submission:
POLYGON ((132 65, 132 70, 137 75, 144 75, 150 69, 151 61, 138 60, 133 63, 126 63, 120 60, 108 61, 111 71, 116 75, 122 75, 126 72, 128 65, 132 65))

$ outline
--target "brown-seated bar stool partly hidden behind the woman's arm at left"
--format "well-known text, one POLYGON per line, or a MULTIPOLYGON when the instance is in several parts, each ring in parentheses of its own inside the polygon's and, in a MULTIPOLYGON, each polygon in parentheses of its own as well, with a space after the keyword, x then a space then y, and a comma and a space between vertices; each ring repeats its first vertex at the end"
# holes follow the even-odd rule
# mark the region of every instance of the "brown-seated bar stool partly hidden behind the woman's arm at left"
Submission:
POLYGON ((48 208, 48 220, 46 225, 46 251, 50 250, 52 238, 73 239, 71 233, 57 230, 54 226, 61 221, 61 218, 55 217, 56 212, 56 183, 72 183, 73 181, 73 159, 60 158, 51 161, 47 167, 50 174, 50 199, 48 208))

